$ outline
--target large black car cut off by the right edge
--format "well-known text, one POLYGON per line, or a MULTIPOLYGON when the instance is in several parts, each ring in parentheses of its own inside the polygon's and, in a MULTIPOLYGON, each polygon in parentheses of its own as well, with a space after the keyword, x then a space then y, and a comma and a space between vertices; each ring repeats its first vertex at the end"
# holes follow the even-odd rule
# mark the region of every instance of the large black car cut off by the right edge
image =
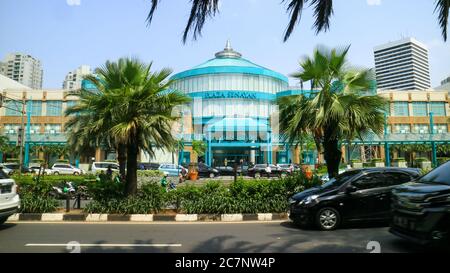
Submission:
POLYGON ((450 162, 393 190, 390 232, 427 245, 450 243, 450 162))

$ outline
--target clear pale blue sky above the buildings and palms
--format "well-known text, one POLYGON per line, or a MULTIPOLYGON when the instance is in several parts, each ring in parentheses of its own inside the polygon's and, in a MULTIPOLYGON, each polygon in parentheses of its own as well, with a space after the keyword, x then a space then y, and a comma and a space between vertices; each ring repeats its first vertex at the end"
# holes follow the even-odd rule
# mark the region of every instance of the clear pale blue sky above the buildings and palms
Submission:
POLYGON ((0 59, 10 52, 40 59, 44 88, 58 89, 80 65, 96 68, 127 56, 181 72, 213 58, 227 39, 244 58, 285 75, 298 71, 317 45, 351 45, 350 63, 372 68, 375 46, 411 36, 429 47, 432 87, 450 75, 450 39, 443 41, 433 0, 335 0, 331 28, 318 35, 306 7, 286 43, 282 2, 220 0, 203 36, 184 45, 188 0, 161 0, 151 26, 150 0, 0 0, 0 59))

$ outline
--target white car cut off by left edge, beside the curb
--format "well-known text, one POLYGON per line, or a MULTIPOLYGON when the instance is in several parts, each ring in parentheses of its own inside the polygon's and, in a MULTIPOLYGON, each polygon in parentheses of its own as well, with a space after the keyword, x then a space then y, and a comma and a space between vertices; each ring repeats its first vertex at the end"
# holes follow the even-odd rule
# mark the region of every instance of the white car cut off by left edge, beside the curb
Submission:
POLYGON ((20 208, 17 185, 13 179, 0 169, 0 225, 20 208))

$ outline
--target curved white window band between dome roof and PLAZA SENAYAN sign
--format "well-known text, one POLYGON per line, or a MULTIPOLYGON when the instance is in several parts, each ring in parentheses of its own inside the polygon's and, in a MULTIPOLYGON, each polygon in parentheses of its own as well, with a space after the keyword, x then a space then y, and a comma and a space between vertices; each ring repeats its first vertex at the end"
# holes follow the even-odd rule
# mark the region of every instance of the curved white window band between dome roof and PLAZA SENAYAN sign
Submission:
POLYGON ((221 74, 204 75, 190 77, 176 81, 173 88, 185 93, 202 91, 259 91, 276 94, 287 89, 287 84, 283 81, 266 76, 256 76, 250 74, 221 74))

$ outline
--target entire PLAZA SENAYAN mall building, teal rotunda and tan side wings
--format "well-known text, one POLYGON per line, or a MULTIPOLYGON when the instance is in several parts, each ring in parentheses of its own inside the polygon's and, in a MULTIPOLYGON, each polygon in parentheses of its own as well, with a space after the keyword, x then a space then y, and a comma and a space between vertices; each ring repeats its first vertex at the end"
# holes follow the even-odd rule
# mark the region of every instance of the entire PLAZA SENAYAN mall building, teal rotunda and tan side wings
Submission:
MULTIPOLYGON (((285 75, 246 60, 229 43, 213 59, 175 74, 172 80, 172 89, 192 98, 192 102, 179 111, 180 122, 173 127, 173 134, 181 140, 183 148, 175 153, 159 151, 153 159, 142 153, 141 162, 202 160, 212 166, 234 160, 314 164, 320 158, 312 151, 301 154, 300 149, 284 142, 278 131, 277 99, 313 92, 290 87, 285 75), (200 158, 192 149, 195 141, 206 144, 205 154, 200 158)), ((89 88, 88 83, 85 88, 89 88)), ((26 137, 31 146, 65 144, 64 124, 68 118, 63 113, 76 103, 76 97, 62 90, 16 87, 0 91, 3 95, 31 102, 28 103, 31 116, 26 137)), ((390 101, 385 132, 382 136, 353 141, 353 148, 343 149, 344 160, 385 158, 392 155, 392 145, 396 144, 429 144, 434 150, 428 157, 436 159, 436 146, 449 145, 449 91, 369 91, 378 92, 390 101)), ((19 107, 15 103, 5 101, 9 109, 0 108, 1 134, 7 135, 12 143, 17 141, 21 123, 20 114, 10 110, 19 107)), ((25 117, 25 122, 27 120, 25 117)), ((396 156, 402 155, 394 153, 393 157, 396 156)), ((92 157, 97 161, 115 159, 115 153, 97 149, 95 154, 78 158, 76 162, 88 163, 92 157)), ((391 157, 386 158, 387 165, 391 157)))

